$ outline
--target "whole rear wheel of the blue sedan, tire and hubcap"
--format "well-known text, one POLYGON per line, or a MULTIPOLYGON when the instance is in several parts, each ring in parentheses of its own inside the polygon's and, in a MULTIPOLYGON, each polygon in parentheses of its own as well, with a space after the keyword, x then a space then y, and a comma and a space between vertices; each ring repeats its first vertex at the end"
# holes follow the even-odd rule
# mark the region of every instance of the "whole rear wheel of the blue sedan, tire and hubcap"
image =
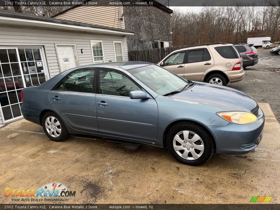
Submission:
POLYGON ((42 118, 43 129, 53 141, 64 141, 69 133, 62 119, 54 112, 46 112, 42 118))

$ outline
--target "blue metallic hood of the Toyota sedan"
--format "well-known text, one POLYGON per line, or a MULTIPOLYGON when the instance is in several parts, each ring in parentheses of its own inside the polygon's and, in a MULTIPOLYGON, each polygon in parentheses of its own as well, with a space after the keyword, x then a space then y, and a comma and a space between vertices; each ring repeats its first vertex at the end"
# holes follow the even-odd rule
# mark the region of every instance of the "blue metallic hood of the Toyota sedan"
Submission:
POLYGON ((207 104, 228 111, 251 111, 257 106, 254 99, 239 90, 201 82, 195 82, 191 88, 171 97, 207 104))

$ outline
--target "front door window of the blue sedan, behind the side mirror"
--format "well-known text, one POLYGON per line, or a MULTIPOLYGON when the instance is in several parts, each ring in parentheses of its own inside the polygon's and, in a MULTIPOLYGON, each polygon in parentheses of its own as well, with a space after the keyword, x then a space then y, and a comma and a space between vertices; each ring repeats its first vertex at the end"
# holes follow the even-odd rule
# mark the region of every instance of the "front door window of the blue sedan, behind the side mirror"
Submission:
POLYGON ((99 71, 100 94, 128 96, 132 90, 141 90, 125 75, 116 71, 99 71))

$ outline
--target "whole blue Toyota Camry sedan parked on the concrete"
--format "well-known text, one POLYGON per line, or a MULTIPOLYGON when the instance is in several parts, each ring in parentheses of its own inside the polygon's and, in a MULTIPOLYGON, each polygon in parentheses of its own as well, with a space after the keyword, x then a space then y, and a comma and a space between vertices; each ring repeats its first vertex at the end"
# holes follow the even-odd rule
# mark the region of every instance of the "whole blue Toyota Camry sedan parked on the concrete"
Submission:
POLYGON ((155 64, 116 62, 64 71, 22 90, 22 114, 63 141, 88 134, 167 147, 184 164, 244 154, 263 136, 265 116, 250 96, 188 81, 155 64))

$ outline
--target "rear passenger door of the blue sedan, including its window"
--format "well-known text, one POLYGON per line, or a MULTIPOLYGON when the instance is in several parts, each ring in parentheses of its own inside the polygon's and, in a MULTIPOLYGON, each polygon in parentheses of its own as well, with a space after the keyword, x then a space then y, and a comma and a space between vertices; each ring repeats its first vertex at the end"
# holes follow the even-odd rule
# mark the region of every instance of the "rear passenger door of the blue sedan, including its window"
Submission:
POLYGON ((48 99, 57 113, 76 130, 98 133, 96 74, 97 69, 75 71, 48 94, 48 99))

